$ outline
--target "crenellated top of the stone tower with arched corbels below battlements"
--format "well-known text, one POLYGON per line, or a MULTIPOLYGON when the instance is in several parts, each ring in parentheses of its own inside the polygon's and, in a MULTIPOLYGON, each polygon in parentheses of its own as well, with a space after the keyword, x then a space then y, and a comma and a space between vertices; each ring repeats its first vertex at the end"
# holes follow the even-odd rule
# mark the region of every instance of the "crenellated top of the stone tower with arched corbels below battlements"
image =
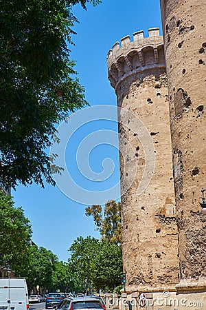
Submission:
POLYGON ((146 38, 142 30, 133 33, 133 41, 126 36, 121 39, 121 44, 115 43, 108 51, 108 79, 115 90, 130 75, 151 68, 165 68, 163 37, 159 35, 159 28, 150 28, 148 33, 146 38))

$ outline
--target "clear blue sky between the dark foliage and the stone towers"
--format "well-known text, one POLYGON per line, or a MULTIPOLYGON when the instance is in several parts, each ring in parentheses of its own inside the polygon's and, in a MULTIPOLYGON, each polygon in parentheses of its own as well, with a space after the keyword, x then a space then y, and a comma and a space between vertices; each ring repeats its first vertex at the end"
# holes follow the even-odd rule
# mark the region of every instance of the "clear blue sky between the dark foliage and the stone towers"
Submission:
MULTIPOLYGON (((107 78, 106 55, 108 50, 116 41, 120 41, 128 34, 132 37, 133 32, 144 30, 145 37, 148 37, 149 28, 161 28, 159 0, 102 0, 99 6, 93 8, 88 5, 87 8, 87 11, 80 6, 73 9, 80 23, 73 28, 77 34, 73 36, 75 46, 69 47, 71 58, 77 62, 76 70, 80 83, 84 85, 86 99, 91 109, 95 105, 115 106, 115 92, 107 78)), ((80 118, 83 118, 84 122, 66 145, 65 161, 69 173, 75 183, 78 183, 82 189, 87 189, 88 192, 98 192, 100 188, 110 189, 116 185, 115 192, 101 197, 105 198, 105 203, 108 199, 118 198, 119 155, 117 135, 113 134, 117 132, 117 124, 113 121, 87 121, 89 117, 87 112, 77 114, 75 117, 74 122, 80 118), (110 132, 105 134, 105 130, 110 132), (93 132, 95 132, 94 135, 93 132), (104 136, 107 136, 107 142, 104 142, 104 136), (87 154, 87 146, 90 143, 88 141, 93 141, 89 154, 87 154), (80 156, 79 165, 75 164, 76 155, 80 156), (91 180, 92 177, 84 177, 84 169, 87 167, 83 164, 87 156, 89 156, 89 172, 94 172, 93 180, 91 180), (80 173, 78 169, 81 169, 80 173), (107 172, 103 180, 102 176, 107 172)), ((113 117, 115 116, 111 118, 113 117)), ((66 184, 67 188, 72 189, 69 181, 66 184)), ((62 181, 60 187, 61 189, 65 187, 65 181, 62 181)), ((76 194, 76 191, 72 189, 69 195, 73 194, 76 194)), ((78 236, 99 238, 93 219, 84 215, 84 209, 91 199, 93 199, 91 204, 100 203, 98 199, 92 198, 93 196, 87 200, 84 193, 80 192, 77 194, 78 197, 73 196, 76 200, 74 201, 68 198, 67 192, 63 194, 57 186, 50 185, 45 185, 45 189, 37 185, 19 186, 16 191, 12 190, 12 196, 16 207, 23 207, 25 216, 32 223, 33 240, 36 245, 51 249, 60 260, 67 261, 68 249, 78 236)))

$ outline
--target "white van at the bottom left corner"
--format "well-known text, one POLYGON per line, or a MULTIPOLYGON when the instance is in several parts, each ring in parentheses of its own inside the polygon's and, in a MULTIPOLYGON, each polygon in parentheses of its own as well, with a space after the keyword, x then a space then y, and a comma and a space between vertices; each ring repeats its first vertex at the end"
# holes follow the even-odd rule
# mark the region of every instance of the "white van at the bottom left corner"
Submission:
POLYGON ((0 310, 27 310, 29 296, 23 278, 0 278, 0 310))

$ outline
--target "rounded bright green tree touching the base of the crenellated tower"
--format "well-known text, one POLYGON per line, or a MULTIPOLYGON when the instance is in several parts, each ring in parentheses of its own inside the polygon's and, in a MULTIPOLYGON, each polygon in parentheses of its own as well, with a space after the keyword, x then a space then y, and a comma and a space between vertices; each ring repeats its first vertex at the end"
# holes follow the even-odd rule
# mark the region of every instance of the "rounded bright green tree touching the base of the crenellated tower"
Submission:
POLYGON ((115 243, 78 237, 69 251, 69 266, 79 281, 82 281, 83 291, 86 289, 86 280, 91 290, 113 290, 119 285, 122 251, 115 243))

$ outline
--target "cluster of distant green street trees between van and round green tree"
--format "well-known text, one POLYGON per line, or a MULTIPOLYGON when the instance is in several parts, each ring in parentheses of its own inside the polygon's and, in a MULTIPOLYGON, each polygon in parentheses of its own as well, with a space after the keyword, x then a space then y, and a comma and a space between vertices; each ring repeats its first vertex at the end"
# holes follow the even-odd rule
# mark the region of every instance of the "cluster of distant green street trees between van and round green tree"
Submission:
POLYGON ((29 247, 25 264, 15 272, 26 278, 30 292, 36 291, 37 287, 41 287, 44 293, 82 290, 80 281, 67 262, 58 260, 58 257, 45 247, 34 244, 29 247))

